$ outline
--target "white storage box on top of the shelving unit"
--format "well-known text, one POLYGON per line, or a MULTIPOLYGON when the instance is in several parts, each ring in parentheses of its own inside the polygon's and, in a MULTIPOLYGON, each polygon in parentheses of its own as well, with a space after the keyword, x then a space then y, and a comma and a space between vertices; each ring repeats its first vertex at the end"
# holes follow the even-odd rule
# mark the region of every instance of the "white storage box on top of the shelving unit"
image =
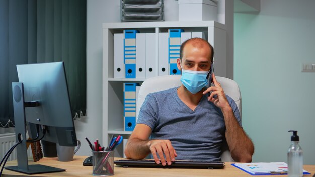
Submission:
POLYGON ((178 0, 179 21, 217 21, 217 5, 210 0, 178 0))

